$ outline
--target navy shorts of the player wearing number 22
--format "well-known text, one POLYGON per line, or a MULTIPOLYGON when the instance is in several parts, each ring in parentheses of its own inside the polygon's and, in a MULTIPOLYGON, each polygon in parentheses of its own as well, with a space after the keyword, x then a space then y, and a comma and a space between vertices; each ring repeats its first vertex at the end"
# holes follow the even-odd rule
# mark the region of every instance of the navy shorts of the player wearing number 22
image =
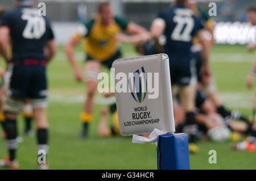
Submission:
POLYGON ((187 86, 192 83, 196 75, 193 73, 191 56, 169 55, 172 85, 187 86))

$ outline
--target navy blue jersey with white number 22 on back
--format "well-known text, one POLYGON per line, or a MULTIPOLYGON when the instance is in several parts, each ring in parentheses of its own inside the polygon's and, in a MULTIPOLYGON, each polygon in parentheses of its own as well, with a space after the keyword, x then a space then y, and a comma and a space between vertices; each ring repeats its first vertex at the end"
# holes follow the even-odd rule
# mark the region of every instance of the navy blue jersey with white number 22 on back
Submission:
POLYGON ((174 6, 160 12, 157 16, 166 23, 165 53, 189 56, 193 37, 203 29, 203 22, 185 6, 174 6))

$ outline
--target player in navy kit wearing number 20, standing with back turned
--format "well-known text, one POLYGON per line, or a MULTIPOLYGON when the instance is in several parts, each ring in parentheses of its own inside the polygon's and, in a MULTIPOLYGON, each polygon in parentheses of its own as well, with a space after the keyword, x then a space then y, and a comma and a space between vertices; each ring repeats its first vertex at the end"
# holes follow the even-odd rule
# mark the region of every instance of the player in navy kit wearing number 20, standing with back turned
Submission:
MULTIPOLYGON (((15 5, 15 9, 3 15, 0 27, 0 50, 8 64, 3 112, 9 151, 9 158, 2 160, 0 165, 10 169, 19 168, 16 119, 24 100, 30 100, 33 107, 38 150, 48 153, 46 64, 56 52, 51 24, 46 16, 39 16, 38 9, 34 9, 36 1, 19 0, 15 5), (7 56, 10 40, 11 60, 7 56)), ((39 169, 48 168, 44 162, 38 166, 39 169)))

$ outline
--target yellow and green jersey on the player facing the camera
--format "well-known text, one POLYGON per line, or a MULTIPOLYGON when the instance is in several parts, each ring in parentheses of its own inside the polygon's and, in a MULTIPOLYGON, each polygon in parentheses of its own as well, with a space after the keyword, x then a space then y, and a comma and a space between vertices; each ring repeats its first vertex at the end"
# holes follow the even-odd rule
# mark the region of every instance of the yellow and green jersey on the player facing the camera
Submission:
POLYGON ((128 22, 117 16, 108 26, 102 26, 100 18, 97 17, 81 24, 75 37, 79 40, 85 38, 84 50, 86 54, 94 60, 105 61, 118 51, 119 43, 115 39, 115 35, 125 31, 127 26, 128 22))

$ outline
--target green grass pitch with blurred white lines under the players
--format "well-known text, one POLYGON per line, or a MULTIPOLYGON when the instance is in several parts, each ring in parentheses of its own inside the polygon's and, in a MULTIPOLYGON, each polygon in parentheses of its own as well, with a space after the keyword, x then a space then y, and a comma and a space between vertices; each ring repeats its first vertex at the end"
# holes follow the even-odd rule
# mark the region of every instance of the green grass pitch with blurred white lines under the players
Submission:
MULTIPOLYGON (((122 45, 124 57, 137 56, 133 47, 122 45)), ((76 49, 77 60, 83 66, 82 48, 76 49)), ((211 65, 218 91, 226 106, 251 115, 253 90, 245 86, 247 72, 254 59, 254 52, 247 52, 241 45, 215 45, 211 65)), ((49 163, 51 169, 156 169, 156 146, 132 144, 131 137, 97 136, 100 119, 100 101, 94 108, 90 136, 79 138, 79 120, 84 100, 84 83, 77 83, 62 47, 48 66, 50 124, 49 163)), ((97 94, 97 100, 101 100, 97 94)), ((19 117, 22 136, 23 120, 19 117)), ((191 169, 256 169, 256 154, 230 150, 232 142, 199 142, 200 151, 190 154, 191 169), (209 150, 217 151, 217 163, 208 162, 209 150)), ((7 154, 6 144, 0 137, 0 157, 7 154)), ((19 145, 20 169, 36 169, 35 137, 23 136, 19 145)))

